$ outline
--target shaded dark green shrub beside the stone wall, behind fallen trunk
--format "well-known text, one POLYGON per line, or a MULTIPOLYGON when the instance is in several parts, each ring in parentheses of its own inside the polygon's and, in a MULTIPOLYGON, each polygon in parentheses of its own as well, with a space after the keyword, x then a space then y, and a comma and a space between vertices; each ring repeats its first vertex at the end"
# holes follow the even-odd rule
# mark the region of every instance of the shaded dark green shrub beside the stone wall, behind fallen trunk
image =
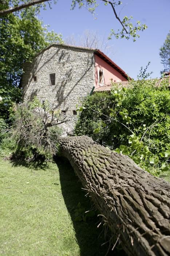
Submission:
POLYGON ((112 148, 117 147, 114 141, 116 133, 113 134, 111 132, 111 123, 104 129, 101 128, 100 133, 94 133, 94 130, 98 128, 99 121, 106 122, 106 120, 108 120, 107 116, 110 114, 113 102, 114 97, 106 92, 95 93, 92 96, 88 96, 83 103, 86 109, 81 112, 76 123, 75 134, 87 135, 102 145, 111 146, 112 148), (111 136, 109 133, 112 133, 111 136))

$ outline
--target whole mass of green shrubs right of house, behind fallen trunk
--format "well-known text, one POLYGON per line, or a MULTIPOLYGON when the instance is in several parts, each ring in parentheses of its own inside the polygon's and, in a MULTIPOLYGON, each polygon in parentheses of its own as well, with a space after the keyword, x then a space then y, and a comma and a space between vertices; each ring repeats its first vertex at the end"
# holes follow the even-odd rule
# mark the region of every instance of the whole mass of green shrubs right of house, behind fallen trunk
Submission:
MULTIPOLYGON (((150 166, 156 167, 160 158, 168 157, 170 148, 168 81, 162 80, 161 86, 156 86, 157 82, 132 80, 129 88, 118 88, 116 84, 110 94, 87 97, 75 127, 76 135, 88 135, 104 146, 117 148, 117 152, 130 155, 151 172, 150 166)), ((167 169, 164 162, 163 169, 167 169)))

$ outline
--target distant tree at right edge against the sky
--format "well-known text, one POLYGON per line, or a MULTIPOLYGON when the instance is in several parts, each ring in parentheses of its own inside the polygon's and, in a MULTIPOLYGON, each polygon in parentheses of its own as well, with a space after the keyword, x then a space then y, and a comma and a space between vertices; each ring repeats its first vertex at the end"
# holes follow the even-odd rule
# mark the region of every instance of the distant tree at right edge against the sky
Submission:
POLYGON ((159 55, 161 57, 161 63, 163 64, 164 70, 169 71, 170 70, 170 30, 167 34, 167 37, 165 39, 165 42, 163 43, 163 46, 160 48, 159 55))

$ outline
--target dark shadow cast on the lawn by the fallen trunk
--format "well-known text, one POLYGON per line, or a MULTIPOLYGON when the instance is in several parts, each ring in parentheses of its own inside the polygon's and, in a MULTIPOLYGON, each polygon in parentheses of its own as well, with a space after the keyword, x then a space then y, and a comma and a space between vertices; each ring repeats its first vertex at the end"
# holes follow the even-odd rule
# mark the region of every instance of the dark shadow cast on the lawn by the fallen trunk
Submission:
MULTIPOLYGON (((104 242, 104 230, 102 225, 97 228, 100 223, 99 217, 95 216, 87 222, 75 221, 75 208, 78 203, 81 203, 85 210, 91 210, 92 205, 89 198, 85 197, 85 192, 82 189, 82 184, 75 175, 70 163, 67 159, 55 159, 60 174, 60 184, 62 188, 62 195, 66 204, 67 210, 71 216, 74 225, 76 239, 80 247, 81 256, 104 256, 108 251, 108 243, 101 246, 104 242)), ((120 255, 119 251, 109 251, 107 256, 120 255)), ((124 255, 124 254, 122 254, 124 255)))

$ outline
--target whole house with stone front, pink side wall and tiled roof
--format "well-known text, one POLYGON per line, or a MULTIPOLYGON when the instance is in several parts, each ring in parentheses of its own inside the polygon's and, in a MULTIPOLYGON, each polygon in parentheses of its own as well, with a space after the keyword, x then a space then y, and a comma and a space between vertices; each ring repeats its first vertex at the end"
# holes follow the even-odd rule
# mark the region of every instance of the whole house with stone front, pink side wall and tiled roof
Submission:
POLYGON ((52 44, 24 65, 23 100, 37 96, 60 109, 74 127, 76 104, 92 89, 127 81, 127 74, 97 49, 52 44))

